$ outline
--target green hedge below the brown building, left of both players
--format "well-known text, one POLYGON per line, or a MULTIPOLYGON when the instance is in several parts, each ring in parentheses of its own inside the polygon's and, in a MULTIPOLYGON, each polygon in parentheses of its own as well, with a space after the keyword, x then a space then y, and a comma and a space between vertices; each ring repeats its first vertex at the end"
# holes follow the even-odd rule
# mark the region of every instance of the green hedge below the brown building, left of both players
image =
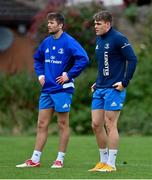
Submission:
POLYGON ((29 73, 0 75, 0 133, 21 133, 36 122, 39 85, 29 73))

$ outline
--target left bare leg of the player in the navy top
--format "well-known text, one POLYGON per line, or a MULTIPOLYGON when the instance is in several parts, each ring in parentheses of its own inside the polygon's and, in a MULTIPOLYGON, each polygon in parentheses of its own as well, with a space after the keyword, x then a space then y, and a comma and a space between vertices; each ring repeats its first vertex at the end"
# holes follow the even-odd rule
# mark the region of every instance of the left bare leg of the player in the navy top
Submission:
POLYGON ((96 136, 98 147, 104 149, 107 147, 107 134, 104 127, 104 113, 105 111, 92 110, 92 128, 96 136))

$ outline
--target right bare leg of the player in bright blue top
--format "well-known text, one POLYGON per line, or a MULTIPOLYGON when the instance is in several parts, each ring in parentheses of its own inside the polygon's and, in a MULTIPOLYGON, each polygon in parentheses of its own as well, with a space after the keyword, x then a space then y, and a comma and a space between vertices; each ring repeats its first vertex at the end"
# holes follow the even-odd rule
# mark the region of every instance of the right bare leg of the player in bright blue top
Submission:
POLYGON ((69 113, 57 113, 58 127, 60 132, 59 151, 65 152, 70 137, 69 113))

